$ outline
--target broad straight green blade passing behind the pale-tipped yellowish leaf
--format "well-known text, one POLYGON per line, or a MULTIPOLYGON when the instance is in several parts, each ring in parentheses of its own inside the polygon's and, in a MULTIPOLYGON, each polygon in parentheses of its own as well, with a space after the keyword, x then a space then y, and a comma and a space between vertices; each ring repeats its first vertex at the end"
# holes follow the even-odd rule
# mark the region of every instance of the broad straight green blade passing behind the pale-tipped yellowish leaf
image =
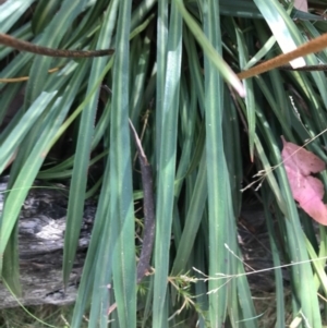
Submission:
MULTIPOLYGON (((206 38, 221 53, 221 36, 219 8, 217 1, 208 1, 204 4, 204 33, 206 38)), ((225 244, 229 244, 227 220, 227 187, 228 171, 226 171, 223 138, 222 138, 222 112, 223 112, 223 82, 215 70, 214 63, 204 49, 205 74, 205 121, 206 121, 206 162, 208 183, 209 208, 209 276, 230 274, 230 258, 226 254, 225 244)), ((211 327, 223 327, 227 301, 227 284, 219 280, 210 280, 208 290, 217 290, 209 294, 209 317, 211 327)))

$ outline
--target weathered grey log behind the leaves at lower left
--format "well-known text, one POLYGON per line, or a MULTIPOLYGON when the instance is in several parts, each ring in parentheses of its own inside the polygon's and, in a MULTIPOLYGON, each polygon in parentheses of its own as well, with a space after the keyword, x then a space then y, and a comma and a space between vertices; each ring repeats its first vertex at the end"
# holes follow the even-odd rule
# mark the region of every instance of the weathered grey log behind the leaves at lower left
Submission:
MULTIPOLYGON (((0 182, 0 211, 7 183, 0 182)), ((20 275, 23 305, 65 305, 76 299, 82 269, 89 243, 96 206, 87 202, 84 210, 78 250, 64 292, 62 283, 63 236, 66 197, 62 191, 35 189, 25 201, 19 221, 20 275)), ((19 306, 17 301, 0 283, 0 308, 19 306)))

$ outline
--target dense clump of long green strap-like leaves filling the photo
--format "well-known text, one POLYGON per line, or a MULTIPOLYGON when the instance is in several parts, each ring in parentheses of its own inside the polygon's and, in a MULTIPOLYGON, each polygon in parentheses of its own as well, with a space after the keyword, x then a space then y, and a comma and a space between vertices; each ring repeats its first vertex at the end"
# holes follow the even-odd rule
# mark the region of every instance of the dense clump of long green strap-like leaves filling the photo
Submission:
MULTIPOLYGON (((84 201, 98 201, 71 327, 82 327, 85 314, 88 327, 323 327, 326 230, 296 208, 280 136, 299 145, 313 138, 307 149, 327 160, 327 135, 315 137, 327 126, 326 74, 272 70, 242 84, 234 73, 326 33, 324 1, 310 5, 301 13, 277 0, 4 1, 1 33, 49 48, 114 49, 59 59, 0 47, 0 168, 10 174, 0 268, 11 290, 21 292, 21 205, 36 179, 59 180, 70 190, 63 284, 84 201), (149 179, 134 161, 140 148, 129 119, 153 169, 156 210, 152 260, 138 288, 138 247, 152 248, 147 221, 140 223, 149 179), (95 162, 100 172, 92 182, 95 162), (259 171, 261 187, 246 193, 264 214, 274 323, 263 321, 253 302, 259 291, 249 283, 238 239, 249 199, 241 190, 259 171)), ((327 53, 305 60, 326 64, 327 53)), ((326 172, 319 179, 327 186, 326 172)))

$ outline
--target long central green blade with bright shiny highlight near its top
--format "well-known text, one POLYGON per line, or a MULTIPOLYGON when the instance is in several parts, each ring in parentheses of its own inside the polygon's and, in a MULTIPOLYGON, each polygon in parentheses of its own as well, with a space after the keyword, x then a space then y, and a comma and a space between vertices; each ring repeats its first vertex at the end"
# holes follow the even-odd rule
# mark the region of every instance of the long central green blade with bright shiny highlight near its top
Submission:
MULTIPOLYGON (((165 15, 166 12, 162 11, 165 15)), ((159 41, 159 40, 158 40, 159 41)), ((165 95, 160 111, 161 122, 156 129, 160 129, 159 138, 156 139, 157 149, 160 149, 158 158, 158 187, 157 187, 157 215, 156 223, 155 266, 153 303, 153 327, 167 327, 167 277, 169 268, 169 245, 171 233, 171 220, 173 209, 175 156, 177 156, 177 130, 179 112, 179 93, 181 76, 182 54, 182 17, 174 2, 171 4, 170 25, 167 44, 167 70, 164 73, 165 95)), ((160 56, 165 56, 160 53, 160 56)), ((164 66, 162 66, 164 68, 164 66)), ((162 87, 162 86, 161 86, 162 87)), ((162 92, 162 89, 161 89, 162 92)), ((162 94, 161 94, 162 95, 162 94)))

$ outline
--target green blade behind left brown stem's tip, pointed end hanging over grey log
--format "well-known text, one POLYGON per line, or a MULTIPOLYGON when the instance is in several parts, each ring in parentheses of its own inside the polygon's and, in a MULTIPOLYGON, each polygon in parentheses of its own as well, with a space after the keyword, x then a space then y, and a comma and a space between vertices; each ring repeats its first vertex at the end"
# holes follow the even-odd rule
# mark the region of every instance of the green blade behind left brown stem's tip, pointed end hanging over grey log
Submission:
MULTIPOLYGON (((113 24, 113 22, 104 24, 97 41, 98 48, 105 49, 110 47, 113 24)), ((89 154, 94 134, 94 122, 99 95, 99 90, 95 93, 93 92, 94 87, 98 84, 99 76, 104 73, 104 69, 106 66, 107 61, 107 58, 98 58, 93 60, 92 71, 86 90, 86 94, 92 94, 92 96, 82 112, 80 121, 77 146, 74 157, 74 168, 70 187, 66 229, 64 234, 64 252, 62 268, 64 286, 66 286, 69 281, 69 276, 73 267, 74 257, 78 244, 81 223, 83 219, 83 207, 87 182, 87 169, 89 166, 89 154)))

